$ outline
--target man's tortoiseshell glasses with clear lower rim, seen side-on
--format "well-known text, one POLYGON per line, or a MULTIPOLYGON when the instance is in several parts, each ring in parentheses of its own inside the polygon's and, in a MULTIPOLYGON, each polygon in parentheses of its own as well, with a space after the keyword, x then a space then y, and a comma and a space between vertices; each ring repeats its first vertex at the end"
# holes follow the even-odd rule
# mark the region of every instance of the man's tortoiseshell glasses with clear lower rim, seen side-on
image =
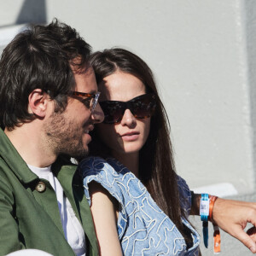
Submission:
POLYGON ((98 102, 100 94, 100 92, 97 92, 96 94, 91 94, 75 90, 71 91, 71 96, 84 103, 85 107, 89 108, 91 113, 93 113, 94 109, 96 108, 96 104, 98 102))

